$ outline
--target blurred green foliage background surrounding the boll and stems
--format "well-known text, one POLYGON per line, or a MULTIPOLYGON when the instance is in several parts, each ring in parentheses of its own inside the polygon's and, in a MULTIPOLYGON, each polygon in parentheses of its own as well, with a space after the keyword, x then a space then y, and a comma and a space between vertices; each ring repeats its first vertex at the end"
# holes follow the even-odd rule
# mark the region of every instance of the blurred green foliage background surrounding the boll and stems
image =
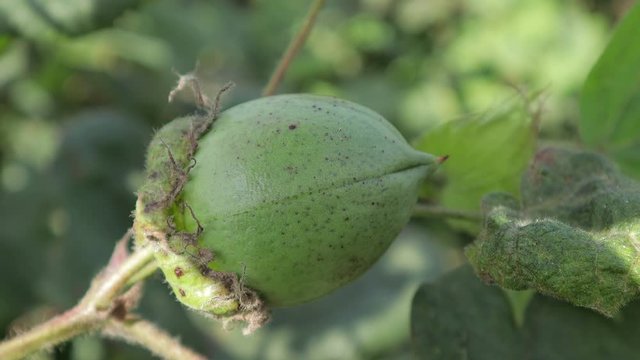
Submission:
MULTIPOLYGON (((542 134, 576 138, 577 95, 626 0, 327 1, 280 87, 370 107, 409 139, 543 91, 542 134)), ((198 63, 229 107, 262 87, 310 1, 0 2, 0 332, 71 307, 131 225, 153 129, 194 111, 167 95, 198 63)), ((160 276, 140 312, 217 359, 410 358, 418 284, 462 261, 468 239, 414 222, 363 278, 250 338, 185 311, 160 276)), ((42 359, 145 359, 79 338, 42 359)))

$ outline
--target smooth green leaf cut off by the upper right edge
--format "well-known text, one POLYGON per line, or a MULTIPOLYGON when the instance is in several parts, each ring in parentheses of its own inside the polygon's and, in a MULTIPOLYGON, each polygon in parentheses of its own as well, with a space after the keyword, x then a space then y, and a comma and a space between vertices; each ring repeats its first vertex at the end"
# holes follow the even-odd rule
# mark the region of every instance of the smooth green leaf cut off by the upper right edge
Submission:
POLYGON ((613 33, 582 89, 580 135, 640 176, 640 4, 613 33))

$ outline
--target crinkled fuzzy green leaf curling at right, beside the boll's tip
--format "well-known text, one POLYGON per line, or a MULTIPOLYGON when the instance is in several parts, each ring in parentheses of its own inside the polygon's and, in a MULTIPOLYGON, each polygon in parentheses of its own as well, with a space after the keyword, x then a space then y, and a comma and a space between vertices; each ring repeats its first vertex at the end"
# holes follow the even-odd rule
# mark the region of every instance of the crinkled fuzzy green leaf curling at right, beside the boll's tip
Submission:
POLYGON ((484 228, 467 247, 489 283, 535 289, 615 315, 640 290, 640 186, 606 158, 544 149, 522 181, 522 208, 483 199, 484 228))

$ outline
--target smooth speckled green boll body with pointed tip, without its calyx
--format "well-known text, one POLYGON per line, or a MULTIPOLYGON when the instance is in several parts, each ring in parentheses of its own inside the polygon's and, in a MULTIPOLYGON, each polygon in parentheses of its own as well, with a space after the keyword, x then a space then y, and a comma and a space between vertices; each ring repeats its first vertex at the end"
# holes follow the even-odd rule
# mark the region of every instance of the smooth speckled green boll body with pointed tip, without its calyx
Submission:
POLYGON ((369 268, 409 220, 435 165, 378 114, 310 95, 224 112, 195 158, 183 197, 206 229, 200 243, 216 257, 209 266, 242 274, 278 306, 322 296, 369 268))

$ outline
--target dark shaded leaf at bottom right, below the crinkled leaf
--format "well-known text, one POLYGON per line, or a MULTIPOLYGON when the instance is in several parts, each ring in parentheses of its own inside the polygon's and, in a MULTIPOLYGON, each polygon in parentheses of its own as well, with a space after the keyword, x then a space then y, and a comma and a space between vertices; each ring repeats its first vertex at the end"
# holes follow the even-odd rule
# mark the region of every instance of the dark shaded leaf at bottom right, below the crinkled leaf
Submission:
POLYGON ((418 359, 637 359, 640 303, 620 319, 536 295, 516 327, 502 290, 469 266, 423 285, 413 299, 411 331, 418 359))

